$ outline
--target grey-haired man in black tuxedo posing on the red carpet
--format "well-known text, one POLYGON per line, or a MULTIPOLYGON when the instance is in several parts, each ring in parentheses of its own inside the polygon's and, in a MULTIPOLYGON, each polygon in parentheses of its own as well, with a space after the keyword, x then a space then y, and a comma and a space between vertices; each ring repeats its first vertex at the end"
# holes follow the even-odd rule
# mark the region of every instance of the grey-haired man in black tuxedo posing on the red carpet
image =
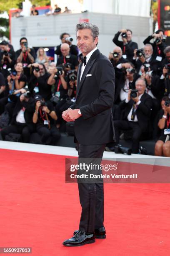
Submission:
MULTIPOLYGON (((77 46, 83 57, 77 73, 77 99, 62 117, 67 122, 75 120, 79 163, 87 158, 96 159, 100 164, 106 143, 114 141, 115 137, 111 111, 115 72, 111 62, 96 47, 97 26, 80 23, 76 26, 76 33, 77 46)), ((95 237, 106 237, 103 183, 78 183, 78 189, 82 206, 79 230, 63 242, 65 246, 80 246, 95 242, 95 237)))

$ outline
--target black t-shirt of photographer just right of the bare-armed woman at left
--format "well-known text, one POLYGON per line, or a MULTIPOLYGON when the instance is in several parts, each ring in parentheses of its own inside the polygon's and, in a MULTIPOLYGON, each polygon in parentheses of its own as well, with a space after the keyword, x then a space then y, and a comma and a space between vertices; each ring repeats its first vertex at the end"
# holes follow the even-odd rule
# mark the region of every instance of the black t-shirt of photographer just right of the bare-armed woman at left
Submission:
POLYGON ((32 93, 32 96, 39 94, 41 95, 46 101, 50 100, 52 96, 51 92, 51 85, 47 84, 47 80, 50 77, 49 73, 45 73, 42 77, 35 77, 32 74, 30 82, 28 84, 29 90, 32 93))

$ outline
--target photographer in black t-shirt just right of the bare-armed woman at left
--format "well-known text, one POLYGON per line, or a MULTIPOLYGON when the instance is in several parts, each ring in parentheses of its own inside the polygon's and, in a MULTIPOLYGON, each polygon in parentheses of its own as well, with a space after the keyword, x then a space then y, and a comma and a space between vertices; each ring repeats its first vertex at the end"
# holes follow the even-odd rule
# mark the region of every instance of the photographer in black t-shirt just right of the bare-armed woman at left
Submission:
POLYGON ((31 64, 28 67, 31 69, 31 77, 28 82, 28 88, 32 94, 42 95, 42 97, 47 101, 50 100, 52 96, 51 86, 55 83, 53 80, 53 74, 49 74, 44 64, 31 64))

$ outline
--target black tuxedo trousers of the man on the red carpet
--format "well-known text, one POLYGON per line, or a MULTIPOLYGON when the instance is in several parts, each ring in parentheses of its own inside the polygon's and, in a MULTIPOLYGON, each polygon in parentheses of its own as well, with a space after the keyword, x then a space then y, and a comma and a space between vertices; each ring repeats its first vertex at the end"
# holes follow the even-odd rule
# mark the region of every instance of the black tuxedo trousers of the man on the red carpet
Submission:
MULTIPOLYGON (((106 144, 100 145, 82 145, 77 143, 79 154, 79 164, 82 159, 92 159, 93 164, 99 164, 102 161, 103 152, 106 144)), ((88 171, 88 175, 93 170, 88 171)), ((96 172, 95 172, 96 173, 96 172)), ((102 174, 102 170, 98 169, 97 174, 102 174)), ((104 191, 103 181, 100 183, 79 183, 79 197, 82 207, 79 230, 91 233, 95 229, 103 227, 104 221, 104 191)))

